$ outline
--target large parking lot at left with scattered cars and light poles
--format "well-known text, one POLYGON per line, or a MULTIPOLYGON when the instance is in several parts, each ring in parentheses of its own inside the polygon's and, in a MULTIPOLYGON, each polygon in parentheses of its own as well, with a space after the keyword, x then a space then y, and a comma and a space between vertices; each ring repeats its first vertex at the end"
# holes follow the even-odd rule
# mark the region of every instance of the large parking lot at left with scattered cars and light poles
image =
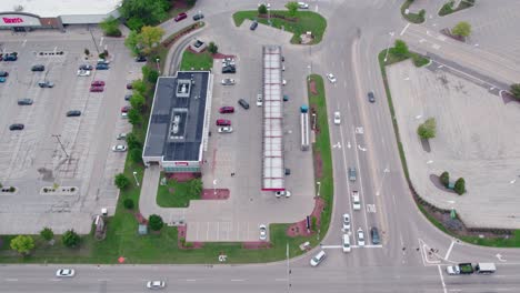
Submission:
POLYGON ((0 36, 3 53, 18 52, 17 61, 0 61, 0 71, 9 72, 0 83, 0 182, 17 189, 0 195, 0 234, 37 233, 43 226, 88 233, 101 208, 114 212, 113 175, 122 171, 126 153, 111 148, 121 143, 118 133, 131 129, 120 108, 128 104, 126 84, 140 77, 142 63, 132 61, 122 39, 102 39, 86 28, 0 36), (104 48, 110 69, 77 75, 81 64, 96 67, 97 50, 104 48), (34 64, 44 71, 31 71, 34 64), (44 80, 54 87, 40 88, 44 80), (106 82, 102 92, 89 91, 93 80, 106 82), (17 103, 26 98, 32 104, 17 103), (70 110, 81 115, 67 117, 70 110), (10 131, 13 123, 23 130, 10 131))

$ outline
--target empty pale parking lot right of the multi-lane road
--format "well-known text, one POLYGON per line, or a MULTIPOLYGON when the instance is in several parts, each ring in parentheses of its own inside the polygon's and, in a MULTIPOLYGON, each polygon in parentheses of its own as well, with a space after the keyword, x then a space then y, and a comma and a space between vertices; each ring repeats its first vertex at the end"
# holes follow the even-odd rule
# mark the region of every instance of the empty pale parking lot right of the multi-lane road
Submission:
POLYGON ((520 123, 518 102, 508 101, 433 63, 418 69, 411 62, 389 67, 399 132, 414 189, 430 203, 454 208, 470 228, 518 229, 520 123), (437 121, 429 146, 417 128, 437 121), (439 188, 438 175, 464 178, 467 192, 439 188))

